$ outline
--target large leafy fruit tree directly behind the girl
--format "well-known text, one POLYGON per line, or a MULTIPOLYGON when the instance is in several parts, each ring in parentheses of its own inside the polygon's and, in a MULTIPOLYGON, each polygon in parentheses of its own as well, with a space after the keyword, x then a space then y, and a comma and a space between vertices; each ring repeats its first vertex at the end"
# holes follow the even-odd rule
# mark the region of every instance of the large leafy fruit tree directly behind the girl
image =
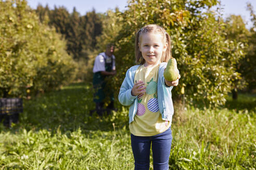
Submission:
MULTIPOLYGON (((216 0, 205 1, 153 1, 132 0, 124 12, 116 12, 119 28, 116 42, 117 69, 120 81, 127 68, 134 65, 134 41, 136 32, 147 24, 164 27, 172 39, 172 53, 177 60, 181 79, 173 89, 175 98, 183 95, 187 102, 202 106, 217 106, 225 103, 225 96, 232 90, 232 79, 238 78, 235 64, 242 58, 243 47, 225 38, 225 23, 211 10, 216 0)), ((107 34, 108 30, 104 30, 107 34)), ((118 90, 117 90, 118 93, 118 90)))

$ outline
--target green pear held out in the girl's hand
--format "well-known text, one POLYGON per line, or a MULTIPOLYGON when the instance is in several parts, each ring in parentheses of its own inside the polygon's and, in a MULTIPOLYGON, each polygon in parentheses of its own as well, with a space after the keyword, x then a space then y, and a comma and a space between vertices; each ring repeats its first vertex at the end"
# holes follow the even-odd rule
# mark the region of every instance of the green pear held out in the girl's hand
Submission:
POLYGON ((167 67, 164 70, 163 77, 165 80, 168 81, 175 81, 177 80, 179 75, 178 68, 177 68, 177 62, 174 58, 171 58, 168 63, 167 67))

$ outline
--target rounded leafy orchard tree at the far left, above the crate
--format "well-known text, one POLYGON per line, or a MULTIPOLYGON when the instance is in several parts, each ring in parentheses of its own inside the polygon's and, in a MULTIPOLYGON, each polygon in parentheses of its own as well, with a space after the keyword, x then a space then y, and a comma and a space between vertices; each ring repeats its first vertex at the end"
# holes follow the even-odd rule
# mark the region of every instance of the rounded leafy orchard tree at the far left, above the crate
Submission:
POLYGON ((72 80, 75 62, 61 36, 26 1, 0 1, 0 97, 47 91, 72 80))

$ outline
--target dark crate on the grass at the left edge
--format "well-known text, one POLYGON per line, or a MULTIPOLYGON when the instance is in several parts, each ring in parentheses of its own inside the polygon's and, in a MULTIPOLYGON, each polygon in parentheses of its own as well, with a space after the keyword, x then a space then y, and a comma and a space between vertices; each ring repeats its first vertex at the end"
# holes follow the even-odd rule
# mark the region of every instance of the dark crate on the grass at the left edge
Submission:
POLYGON ((22 98, 0 98, 0 121, 10 127, 18 123, 19 114, 23 112, 22 98))

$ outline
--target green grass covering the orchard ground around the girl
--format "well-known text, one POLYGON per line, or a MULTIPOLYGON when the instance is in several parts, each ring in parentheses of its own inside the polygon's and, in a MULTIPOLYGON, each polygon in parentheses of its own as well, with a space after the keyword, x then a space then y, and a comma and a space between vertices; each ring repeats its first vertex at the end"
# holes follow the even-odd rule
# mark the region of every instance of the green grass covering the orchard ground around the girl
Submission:
MULTIPOLYGON (((170 169, 256 168, 255 96, 227 100, 225 108, 176 109, 170 169)), ((20 123, 0 126, 0 169, 134 169, 128 110, 117 107, 89 116, 83 83, 24 101, 20 123)))

